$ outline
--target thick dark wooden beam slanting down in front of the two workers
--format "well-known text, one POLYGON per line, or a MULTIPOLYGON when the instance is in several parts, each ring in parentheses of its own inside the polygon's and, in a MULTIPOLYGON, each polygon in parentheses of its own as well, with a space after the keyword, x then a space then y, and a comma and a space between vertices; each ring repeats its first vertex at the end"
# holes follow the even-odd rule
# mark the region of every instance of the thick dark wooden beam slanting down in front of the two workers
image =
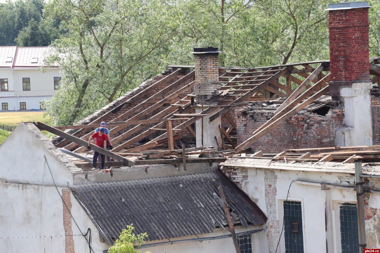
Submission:
MULTIPOLYGON (((73 141, 81 146, 86 146, 88 145, 88 142, 87 141, 84 141, 82 139, 79 139, 78 137, 75 137, 75 136, 72 136, 71 134, 68 134, 68 133, 65 133, 61 130, 58 130, 52 126, 49 126, 49 125, 46 125, 44 123, 41 123, 41 122, 37 122, 36 123, 36 126, 40 129, 43 129, 43 130, 46 130, 46 131, 49 131, 50 133, 54 133, 62 138, 65 138, 65 139, 68 139, 70 141, 73 141)), ((101 153, 102 155, 106 155, 107 157, 111 157, 113 158, 114 160, 117 160, 117 161, 122 161, 123 162, 123 165, 124 166, 133 166, 134 163, 133 161, 131 160, 128 160, 124 157, 122 157, 121 155, 117 155, 109 150, 106 150, 106 149, 103 149, 101 147, 98 147, 97 145, 94 145, 94 144, 90 144, 90 147, 92 150, 95 150, 99 153, 101 153)))

